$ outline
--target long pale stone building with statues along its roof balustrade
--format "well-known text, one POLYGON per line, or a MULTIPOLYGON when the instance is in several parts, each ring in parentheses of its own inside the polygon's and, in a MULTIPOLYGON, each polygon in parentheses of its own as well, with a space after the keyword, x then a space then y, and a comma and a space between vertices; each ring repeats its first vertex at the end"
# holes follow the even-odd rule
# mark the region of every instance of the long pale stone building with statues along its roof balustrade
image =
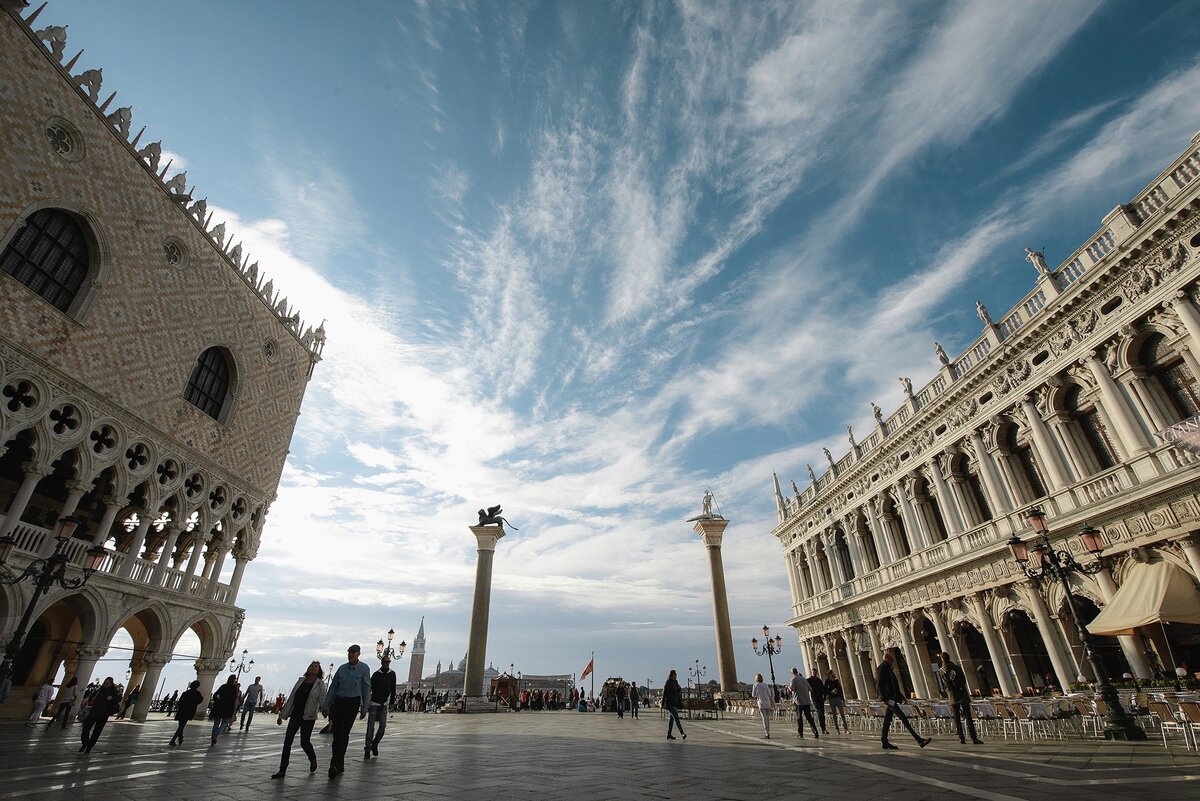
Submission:
MULTIPOLYGON (((906 689, 937 695, 947 650, 972 689, 1006 694, 1092 680, 1061 589, 1009 555, 1040 506, 1056 547, 1102 529, 1106 568, 1075 574, 1080 616, 1130 565, 1200 576, 1200 466, 1156 432, 1200 411, 1200 134, 1145 191, 1104 217, 1061 266, 1028 252, 1037 282, 928 385, 806 489, 775 478, 792 618, 805 663, 874 698, 894 649, 906 689)), ((1130 585, 1132 586, 1132 585, 1130 585)), ((1200 663, 1200 627, 1098 638, 1112 675, 1200 663)))

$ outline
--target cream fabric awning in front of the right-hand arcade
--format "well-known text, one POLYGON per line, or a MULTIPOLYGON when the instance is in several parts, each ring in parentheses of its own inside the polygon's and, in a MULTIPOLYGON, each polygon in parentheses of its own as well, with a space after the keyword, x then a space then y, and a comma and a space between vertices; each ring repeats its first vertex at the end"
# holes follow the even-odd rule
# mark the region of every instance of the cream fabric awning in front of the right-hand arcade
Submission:
POLYGON ((1133 565, 1100 614, 1087 624, 1099 636, 1133 634, 1151 624, 1200 624, 1200 590, 1168 561, 1133 565))

